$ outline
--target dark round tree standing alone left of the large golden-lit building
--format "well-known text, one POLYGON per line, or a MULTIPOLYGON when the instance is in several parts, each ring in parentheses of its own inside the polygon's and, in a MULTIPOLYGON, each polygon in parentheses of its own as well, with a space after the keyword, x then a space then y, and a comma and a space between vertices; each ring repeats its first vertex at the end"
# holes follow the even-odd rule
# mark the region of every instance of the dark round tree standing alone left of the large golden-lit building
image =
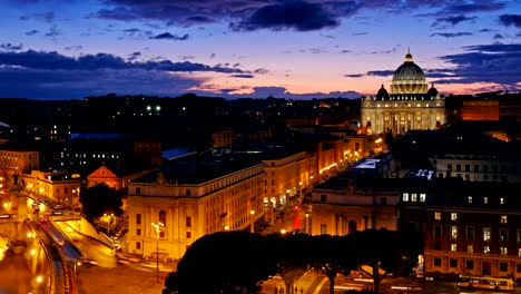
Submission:
POLYGON ((89 222, 104 214, 122 215, 121 195, 106 184, 98 184, 94 187, 81 189, 79 202, 82 206, 85 217, 89 222))

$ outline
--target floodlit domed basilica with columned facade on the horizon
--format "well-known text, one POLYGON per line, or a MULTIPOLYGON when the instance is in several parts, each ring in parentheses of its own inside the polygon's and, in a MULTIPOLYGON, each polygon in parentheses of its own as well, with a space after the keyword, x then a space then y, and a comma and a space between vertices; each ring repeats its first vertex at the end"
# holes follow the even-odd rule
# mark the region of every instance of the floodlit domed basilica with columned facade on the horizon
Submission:
POLYGON ((394 71, 391 95, 382 85, 376 96, 362 99, 361 120, 367 135, 435 129, 445 122, 445 100, 434 85, 429 88, 423 70, 407 51, 394 71))

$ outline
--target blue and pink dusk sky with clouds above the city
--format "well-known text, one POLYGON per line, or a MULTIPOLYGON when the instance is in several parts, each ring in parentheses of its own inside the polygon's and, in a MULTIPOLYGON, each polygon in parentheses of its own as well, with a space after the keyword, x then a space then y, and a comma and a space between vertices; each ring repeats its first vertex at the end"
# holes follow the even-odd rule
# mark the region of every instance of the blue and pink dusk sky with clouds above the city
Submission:
POLYGON ((521 89, 519 0, 1 0, 0 97, 375 95, 407 49, 445 95, 521 89))

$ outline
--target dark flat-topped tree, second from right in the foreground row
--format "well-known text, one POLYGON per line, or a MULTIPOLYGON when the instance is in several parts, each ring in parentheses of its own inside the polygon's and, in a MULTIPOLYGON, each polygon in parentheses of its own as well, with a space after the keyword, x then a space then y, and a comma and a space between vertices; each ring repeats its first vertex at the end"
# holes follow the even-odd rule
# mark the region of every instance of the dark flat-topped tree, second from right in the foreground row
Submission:
POLYGON ((350 274, 357 267, 352 256, 348 239, 344 236, 318 235, 312 239, 311 266, 322 272, 330 280, 330 293, 334 293, 335 277, 338 274, 350 274))

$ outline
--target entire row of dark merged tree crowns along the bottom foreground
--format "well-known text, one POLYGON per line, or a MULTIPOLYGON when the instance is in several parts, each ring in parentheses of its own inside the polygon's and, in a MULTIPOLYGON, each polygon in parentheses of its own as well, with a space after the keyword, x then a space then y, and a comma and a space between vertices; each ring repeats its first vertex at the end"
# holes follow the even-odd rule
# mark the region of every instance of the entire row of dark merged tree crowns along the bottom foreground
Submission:
POLYGON ((262 283, 278 274, 291 294, 294 282, 308 270, 325 274, 333 293, 336 275, 348 275, 356 268, 374 278, 377 292, 389 273, 404 266, 404 244, 399 232, 386 229, 345 236, 214 233, 187 249, 177 271, 165 281, 164 293, 260 293, 262 283))

